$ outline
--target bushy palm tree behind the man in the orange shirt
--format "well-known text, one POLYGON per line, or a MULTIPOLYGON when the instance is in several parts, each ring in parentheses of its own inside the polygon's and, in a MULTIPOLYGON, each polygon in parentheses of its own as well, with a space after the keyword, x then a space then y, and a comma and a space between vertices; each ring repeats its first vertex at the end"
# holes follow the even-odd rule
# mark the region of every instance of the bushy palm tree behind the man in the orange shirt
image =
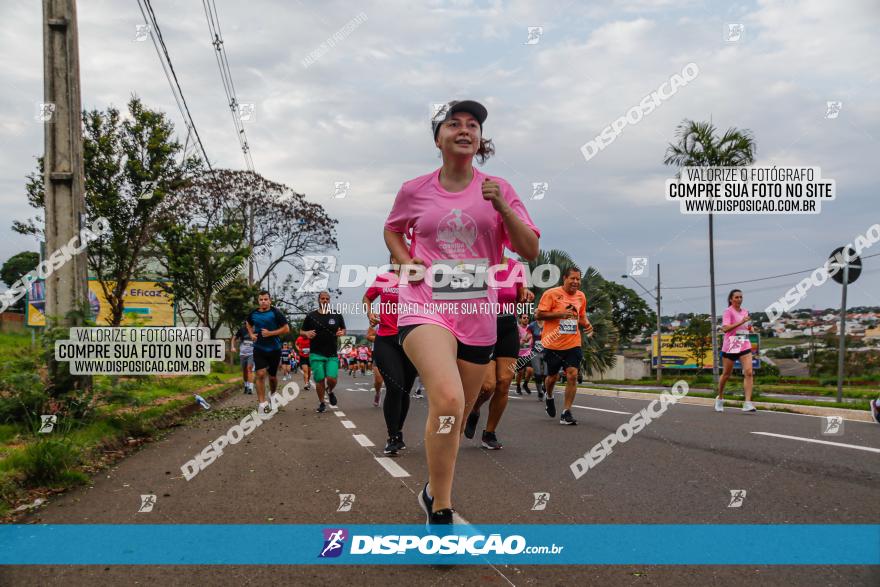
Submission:
MULTIPOLYGON (((530 274, 539 265, 554 265, 564 272, 568 267, 579 266, 565 251, 552 249, 550 251, 538 251, 534 261, 524 261, 529 268, 530 274)), ((617 348, 617 328, 611 319, 611 300, 602 287, 605 280, 593 267, 581 270, 581 291, 587 296, 587 318, 593 325, 592 338, 583 337, 581 348, 584 351, 582 368, 590 375, 594 372, 606 371, 614 367, 616 357, 614 350, 617 348)), ((561 281, 547 288, 533 286, 535 294, 535 306, 541 300, 541 296, 550 287, 560 285, 561 281)))

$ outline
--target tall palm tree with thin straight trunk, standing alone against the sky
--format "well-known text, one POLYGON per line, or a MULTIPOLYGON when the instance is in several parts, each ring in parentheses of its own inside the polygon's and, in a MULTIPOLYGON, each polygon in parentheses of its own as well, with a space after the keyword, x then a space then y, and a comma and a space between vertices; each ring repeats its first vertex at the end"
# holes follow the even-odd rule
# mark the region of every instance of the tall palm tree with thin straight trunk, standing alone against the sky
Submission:
MULTIPOLYGON (((684 119, 678 125, 678 144, 666 148, 663 163, 678 167, 738 167, 755 162, 755 138, 752 131, 729 128, 721 138, 715 136, 711 122, 684 119)), ((678 175, 677 174, 677 175, 678 175)), ((712 214, 709 214, 709 295, 712 307, 712 381, 718 388, 718 324, 715 312, 715 242, 712 214)))

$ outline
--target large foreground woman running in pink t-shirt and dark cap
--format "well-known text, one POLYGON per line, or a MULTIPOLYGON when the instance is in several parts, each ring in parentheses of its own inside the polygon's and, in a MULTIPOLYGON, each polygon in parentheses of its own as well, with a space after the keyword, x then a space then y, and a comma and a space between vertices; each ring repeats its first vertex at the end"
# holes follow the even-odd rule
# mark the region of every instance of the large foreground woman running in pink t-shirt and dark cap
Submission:
POLYGON ((538 254, 540 233, 513 187, 473 166, 474 157, 483 163, 494 152, 482 136, 486 116, 473 101, 450 102, 434 116, 443 165, 404 183, 385 222, 385 243, 402 264, 400 342, 428 397, 428 482, 419 494, 427 524, 453 523, 462 417, 480 392, 496 340, 488 268, 505 248, 524 259, 538 254))

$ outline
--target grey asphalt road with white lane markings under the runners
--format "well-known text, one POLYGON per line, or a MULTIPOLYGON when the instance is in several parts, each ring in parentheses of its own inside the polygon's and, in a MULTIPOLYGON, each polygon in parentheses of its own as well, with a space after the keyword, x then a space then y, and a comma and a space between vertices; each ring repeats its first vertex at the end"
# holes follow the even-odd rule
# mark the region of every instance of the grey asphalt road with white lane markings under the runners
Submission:
MULTIPOLYGON (((297 380, 301 383, 301 379, 297 380)), ((180 466, 240 420, 254 396, 236 394, 186 426, 52 499, 38 523, 421 524, 417 492, 427 471, 421 437, 426 400, 413 400, 409 448, 391 471, 378 460, 381 409, 364 378, 344 376, 339 407, 316 414, 300 396, 223 457, 186 481, 180 466), (340 414, 341 413, 341 414, 340 414), (356 436, 357 435, 357 436, 356 436), (367 440, 368 439, 368 440, 367 440), (363 446, 372 444, 373 446, 363 446), (393 476, 392 472, 396 475, 393 476), (337 512, 340 493, 355 494, 337 512), (138 513, 141 494, 155 494, 138 513)), ((557 406, 561 410, 561 388, 557 406)), ((844 423, 822 434, 813 416, 678 404, 580 479, 570 463, 647 400, 581 390, 578 426, 560 426, 536 396, 511 399, 498 430, 500 451, 463 439, 454 506, 473 524, 782 524, 880 522, 880 426, 844 423), (760 433, 760 434, 759 434, 760 433), (773 436, 781 435, 781 436, 773 436), (794 438, 786 438, 794 437, 794 438), (807 442, 804 439, 820 441, 807 442), (839 446, 831 443, 852 446, 839 446), (862 447, 860 448, 853 448, 862 447), (864 450, 864 449, 873 449, 864 450), (731 490, 745 490, 728 507, 731 490), (548 492, 543 511, 533 494, 548 492)), ((485 423, 486 408, 483 420, 485 423)), ((707 544, 707 549, 760 549, 707 544)), ((878 545, 880 548, 880 545, 878 545)), ((27 566, 0 568, 2 585, 880 585, 880 567, 859 566, 27 566)))

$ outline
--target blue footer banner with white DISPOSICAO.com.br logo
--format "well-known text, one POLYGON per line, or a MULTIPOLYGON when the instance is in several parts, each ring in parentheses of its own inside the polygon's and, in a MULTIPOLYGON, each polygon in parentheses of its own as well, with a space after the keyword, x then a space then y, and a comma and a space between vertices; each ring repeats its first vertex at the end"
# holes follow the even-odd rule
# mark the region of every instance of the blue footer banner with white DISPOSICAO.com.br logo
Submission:
POLYGON ((877 524, 10 524, 4 565, 880 565, 877 524))

